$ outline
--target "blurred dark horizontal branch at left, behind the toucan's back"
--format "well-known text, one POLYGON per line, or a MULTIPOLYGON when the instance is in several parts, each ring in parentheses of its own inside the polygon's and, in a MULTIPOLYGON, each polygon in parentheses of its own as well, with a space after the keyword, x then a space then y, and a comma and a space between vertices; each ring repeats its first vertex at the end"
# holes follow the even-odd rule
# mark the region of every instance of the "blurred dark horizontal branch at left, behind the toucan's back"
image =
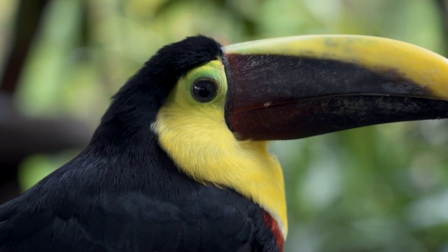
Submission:
POLYGON ((20 194, 18 168, 29 155, 86 146, 92 131, 69 118, 29 118, 0 92, 0 204, 20 194))

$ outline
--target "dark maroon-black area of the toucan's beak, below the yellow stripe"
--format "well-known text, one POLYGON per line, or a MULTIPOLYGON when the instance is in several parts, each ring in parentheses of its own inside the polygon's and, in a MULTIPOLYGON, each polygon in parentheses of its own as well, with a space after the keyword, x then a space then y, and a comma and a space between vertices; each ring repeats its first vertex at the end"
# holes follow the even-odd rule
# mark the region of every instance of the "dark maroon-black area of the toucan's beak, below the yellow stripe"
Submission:
POLYGON ((298 139, 448 117, 448 102, 394 69, 283 55, 226 55, 225 120, 239 139, 298 139))

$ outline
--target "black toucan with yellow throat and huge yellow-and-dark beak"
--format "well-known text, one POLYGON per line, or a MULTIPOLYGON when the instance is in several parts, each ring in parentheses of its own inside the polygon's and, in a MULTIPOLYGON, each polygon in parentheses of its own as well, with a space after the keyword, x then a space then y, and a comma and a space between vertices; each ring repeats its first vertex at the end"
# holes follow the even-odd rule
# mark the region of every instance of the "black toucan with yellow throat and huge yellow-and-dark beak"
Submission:
POLYGON ((448 61, 370 36, 161 48, 76 158, 0 207, 0 251, 283 251, 267 145, 448 117, 448 61))

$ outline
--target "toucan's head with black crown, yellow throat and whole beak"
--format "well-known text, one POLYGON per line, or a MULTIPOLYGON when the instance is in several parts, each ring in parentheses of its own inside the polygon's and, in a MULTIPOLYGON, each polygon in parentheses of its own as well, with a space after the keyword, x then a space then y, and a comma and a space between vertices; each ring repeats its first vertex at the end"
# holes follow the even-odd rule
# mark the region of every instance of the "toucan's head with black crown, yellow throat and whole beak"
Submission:
POLYGON ((447 118, 447 59, 368 36, 296 36, 222 47, 167 45, 114 97, 95 139, 157 141, 180 172, 235 190, 288 230, 283 174, 267 143, 447 118), (109 129, 109 130, 108 130, 109 129))

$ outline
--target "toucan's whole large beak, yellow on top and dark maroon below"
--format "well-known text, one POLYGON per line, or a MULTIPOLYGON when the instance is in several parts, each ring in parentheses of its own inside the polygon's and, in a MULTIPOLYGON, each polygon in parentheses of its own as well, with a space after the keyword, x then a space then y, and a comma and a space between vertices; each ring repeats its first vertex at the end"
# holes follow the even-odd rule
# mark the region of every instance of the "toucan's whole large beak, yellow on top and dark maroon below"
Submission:
POLYGON ((297 139, 448 117, 448 60, 368 36, 298 36, 223 48, 225 120, 239 139, 297 139))

